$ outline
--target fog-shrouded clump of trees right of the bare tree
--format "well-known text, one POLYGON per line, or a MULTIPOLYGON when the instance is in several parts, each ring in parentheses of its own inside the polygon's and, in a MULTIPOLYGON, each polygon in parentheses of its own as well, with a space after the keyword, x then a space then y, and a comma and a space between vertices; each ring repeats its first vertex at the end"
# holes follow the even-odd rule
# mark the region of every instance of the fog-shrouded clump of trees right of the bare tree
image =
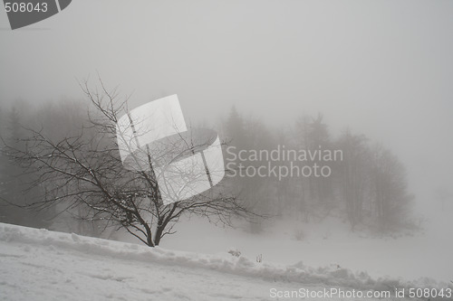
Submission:
MULTIPOLYGON (((389 149, 366 136, 345 129, 341 136, 334 137, 322 114, 301 116, 293 127, 271 128, 261 120, 244 118, 236 108, 231 108, 220 127, 226 145, 230 146, 225 152, 226 166, 232 167, 229 173, 234 174, 233 179, 226 181, 259 212, 292 215, 302 221, 321 221, 333 215, 348 221, 352 230, 366 228, 385 232, 412 227, 413 196, 407 191, 404 166, 389 149), (288 155, 289 150, 293 153, 288 155), (281 157, 272 160, 268 154, 275 151, 286 155, 286 160, 281 157), (316 154, 316 151, 318 155, 308 158, 304 155, 316 154), (236 155, 231 155, 232 152, 236 155), (267 157, 259 155, 260 152, 267 157), (295 157, 294 152, 299 155, 295 157), (325 152, 329 153, 328 160, 319 155, 325 152), (258 154, 256 158, 254 153, 258 154), (293 159, 288 160, 291 154, 293 159), (300 154, 304 155, 301 160, 300 154), (231 163, 228 158, 235 162, 231 163), (263 176, 275 166, 277 171, 284 171, 285 176, 271 173, 268 173, 271 176, 263 176), (320 171, 325 167, 327 176, 309 174, 313 166, 320 171), (260 167, 261 174, 258 173, 260 167), (296 167, 304 168, 306 173, 296 174, 296 167)), ((261 230, 260 221, 252 223, 252 230, 261 230)))

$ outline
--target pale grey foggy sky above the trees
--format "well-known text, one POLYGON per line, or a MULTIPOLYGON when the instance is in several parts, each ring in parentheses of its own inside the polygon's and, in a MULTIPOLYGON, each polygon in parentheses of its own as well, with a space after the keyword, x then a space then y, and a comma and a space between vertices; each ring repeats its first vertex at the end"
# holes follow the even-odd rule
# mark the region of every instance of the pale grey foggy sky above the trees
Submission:
POLYGON ((131 107, 178 94, 192 120, 321 111, 390 146, 414 190, 451 186, 453 1, 73 0, 0 29, 2 102, 81 98, 99 72, 131 107))

